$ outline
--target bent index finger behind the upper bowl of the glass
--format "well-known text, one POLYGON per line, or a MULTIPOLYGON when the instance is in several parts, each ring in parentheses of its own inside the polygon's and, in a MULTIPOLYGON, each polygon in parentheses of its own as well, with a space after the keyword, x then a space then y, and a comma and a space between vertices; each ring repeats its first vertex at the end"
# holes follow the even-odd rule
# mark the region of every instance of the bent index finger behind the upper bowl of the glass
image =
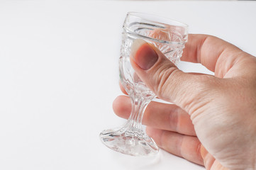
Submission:
POLYGON ((247 55, 235 45, 211 35, 189 34, 182 60, 199 62, 223 78, 238 57, 247 55), (239 54, 239 55, 238 55, 239 54))

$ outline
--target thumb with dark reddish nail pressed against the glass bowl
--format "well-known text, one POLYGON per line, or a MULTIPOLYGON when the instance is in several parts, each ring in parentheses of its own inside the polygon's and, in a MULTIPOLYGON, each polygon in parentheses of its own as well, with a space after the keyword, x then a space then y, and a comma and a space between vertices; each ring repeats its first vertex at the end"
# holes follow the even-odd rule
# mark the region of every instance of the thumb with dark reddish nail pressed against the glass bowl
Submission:
POLYGON ((157 47, 142 39, 133 42, 130 64, 159 98, 186 111, 193 103, 199 102, 200 97, 205 95, 204 91, 208 90, 201 84, 201 77, 199 79, 197 75, 182 72, 157 47))

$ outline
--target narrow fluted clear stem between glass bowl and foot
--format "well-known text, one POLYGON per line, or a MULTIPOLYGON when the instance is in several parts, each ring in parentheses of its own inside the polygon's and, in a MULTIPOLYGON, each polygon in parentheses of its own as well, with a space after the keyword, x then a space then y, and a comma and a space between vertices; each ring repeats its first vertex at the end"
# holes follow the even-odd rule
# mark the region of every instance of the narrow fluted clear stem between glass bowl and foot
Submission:
POLYGON ((142 130, 142 120, 143 120, 143 113, 145 108, 150 103, 150 99, 148 98, 130 98, 132 103, 132 111, 130 113, 130 117, 128 118, 128 126, 133 128, 133 130, 140 131, 142 130))

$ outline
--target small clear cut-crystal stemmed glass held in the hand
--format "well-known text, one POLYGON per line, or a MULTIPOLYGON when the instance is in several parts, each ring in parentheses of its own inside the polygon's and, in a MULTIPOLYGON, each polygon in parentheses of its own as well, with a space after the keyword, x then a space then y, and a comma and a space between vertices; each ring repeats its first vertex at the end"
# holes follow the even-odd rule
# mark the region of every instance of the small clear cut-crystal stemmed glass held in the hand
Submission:
POLYGON ((145 13, 128 13, 123 23, 119 75, 132 103, 128 121, 121 128, 104 130, 99 135, 107 147, 133 156, 157 154, 158 147, 143 130, 142 120, 145 108, 155 94, 140 80, 130 64, 130 47, 141 38, 155 45, 174 64, 182 57, 182 50, 188 38, 188 26, 169 18, 145 13))

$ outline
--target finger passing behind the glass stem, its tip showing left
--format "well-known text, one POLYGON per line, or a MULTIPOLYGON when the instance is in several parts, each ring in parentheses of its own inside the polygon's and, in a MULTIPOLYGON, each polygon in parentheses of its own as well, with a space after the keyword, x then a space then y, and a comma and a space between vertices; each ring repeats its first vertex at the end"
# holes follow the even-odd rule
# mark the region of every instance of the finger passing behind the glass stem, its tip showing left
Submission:
MULTIPOLYGON (((130 98, 128 96, 118 96, 113 102, 113 111, 121 118, 127 119, 131 111, 130 98)), ((189 115, 172 104, 150 102, 143 115, 143 124, 185 135, 196 135, 189 115)))

